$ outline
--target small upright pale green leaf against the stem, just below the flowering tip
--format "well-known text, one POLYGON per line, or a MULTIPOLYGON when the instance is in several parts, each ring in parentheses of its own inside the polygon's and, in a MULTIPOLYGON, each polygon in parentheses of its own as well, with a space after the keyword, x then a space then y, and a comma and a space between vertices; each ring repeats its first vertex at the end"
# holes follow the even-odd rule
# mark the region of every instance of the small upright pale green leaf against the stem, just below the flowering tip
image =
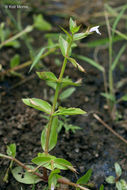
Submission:
POLYGON ((62 55, 65 57, 67 54, 68 49, 68 42, 62 38, 62 36, 59 37, 59 46, 62 52, 62 55))

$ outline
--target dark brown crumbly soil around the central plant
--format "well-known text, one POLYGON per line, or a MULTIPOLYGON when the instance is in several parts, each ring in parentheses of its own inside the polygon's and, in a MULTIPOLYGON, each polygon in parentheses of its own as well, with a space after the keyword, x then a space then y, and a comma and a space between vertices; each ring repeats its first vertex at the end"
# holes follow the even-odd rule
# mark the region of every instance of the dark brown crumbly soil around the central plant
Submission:
MULTIPOLYGON (((35 35, 35 34, 34 34, 35 35)), ((121 46, 121 44, 118 44, 121 46)), ((118 47, 118 46, 117 46, 118 47)), ((117 50, 116 47, 116 50, 117 50)), ((78 50, 80 54, 92 55, 93 52, 86 50, 78 50), (84 53, 85 51, 85 53, 84 53)), ((14 50, 7 48, 6 52, 14 54, 14 50), (11 52, 12 51, 12 52, 11 52)), ((116 51, 117 52, 117 51, 116 51)), ((10 56, 8 53, 8 56, 10 56)), ((104 63, 107 59, 107 51, 101 50, 99 59, 104 63), (103 56, 102 56, 103 55, 103 56)), ((5 52, 2 51, 3 65, 8 62, 5 52)), ((9 57, 8 57, 9 59, 9 57)), ((123 60, 127 59, 127 55, 123 60)), ((46 67, 55 71, 58 75, 59 68, 54 66, 54 57, 45 59, 46 67)), ((108 62, 106 61, 108 64, 108 62)), ((114 163, 118 162, 122 169, 122 177, 127 179, 127 144, 123 143, 104 126, 102 126, 94 117, 93 113, 97 113, 107 124, 116 132, 127 139, 127 127, 122 122, 112 122, 108 111, 105 109, 105 99, 100 95, 104 91, 103 79, 92 66, 87 63, 81 63, 86 69, 87 74, 82 74, 70 66, 68 66, 65 75, 69 75, 76 80, 83 78, 83 85, 77 87, 71 98, 62 103, 65 107, 80 107, 88 112, 86 116, 73 116, 71 123, 81 127, 75 133, 65 133, 64 129, 60 132, 56 148, 51 152, 53 155, 65 158, 70 161, 77 169, 78 174, 72 172, 64 172, 63 175, 75 182, 80 176, 86 173, 88 169, 93 170, 91 182, 94 184, 93 189, 98 189, 103 183, 105 189, 114 189, 108 186, 105 179, 109 175, 115 176, 114 163), (73 69, 73 72, 72 72, 73 69)), ((125 63, 126 64, 126 63, 125 63)), ((5 77, 0 82, 1 85, 1 105, 0 105, 0 152, 6 153, 6 146, 10 143, 16 143, 17 156, 21 162, 30 163, 31 159, 36 157, 38 152, 42 152, 40 135, 46 120, 41 113, 30 107, 27 107, 21 101, 22 98, 36 97, 48 100, 52 95, 46 84, 39 80, 36 75, 29 78, 25 69, 23 72, 27 81, 20 83, 21 79, 15 77, 5 77), (15 86, 19 82, 19 85, 15 86)), ((34 73, 34 72, 33 72, 34 73)), ((119 70, 115 73, 115 81, 125 78, 127 69, 120 74, 119 70), (116 77, 117 76, 117 77, 116 77)), ((24 80, 24 79, 23 79, 24 80)), ((121 96, 126 92, 125 86, 117 92, 117 96, 121 96)), ((117 109, 122 115, 122 119, 126 120, 127 104, 121 103, 117 105, 117 109)), ((0 190, 30 190, 32 186, 17 183, 12 175, 9 175, 9 182, 3 182, 3 176, 9 166, 8 160, 0 159, 0 190)), ((36 185, 36 190, 44 189, 45 183, 36 185)))

